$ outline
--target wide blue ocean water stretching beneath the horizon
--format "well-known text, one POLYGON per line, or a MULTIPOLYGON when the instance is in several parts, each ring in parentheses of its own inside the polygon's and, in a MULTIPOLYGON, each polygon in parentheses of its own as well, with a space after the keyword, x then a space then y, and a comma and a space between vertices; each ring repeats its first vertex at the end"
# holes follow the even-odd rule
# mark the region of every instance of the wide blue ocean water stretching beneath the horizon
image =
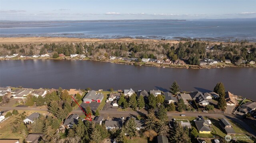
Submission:
POLYGON ((256 41, 256 19, 0 22, 0 37, 256 41))

